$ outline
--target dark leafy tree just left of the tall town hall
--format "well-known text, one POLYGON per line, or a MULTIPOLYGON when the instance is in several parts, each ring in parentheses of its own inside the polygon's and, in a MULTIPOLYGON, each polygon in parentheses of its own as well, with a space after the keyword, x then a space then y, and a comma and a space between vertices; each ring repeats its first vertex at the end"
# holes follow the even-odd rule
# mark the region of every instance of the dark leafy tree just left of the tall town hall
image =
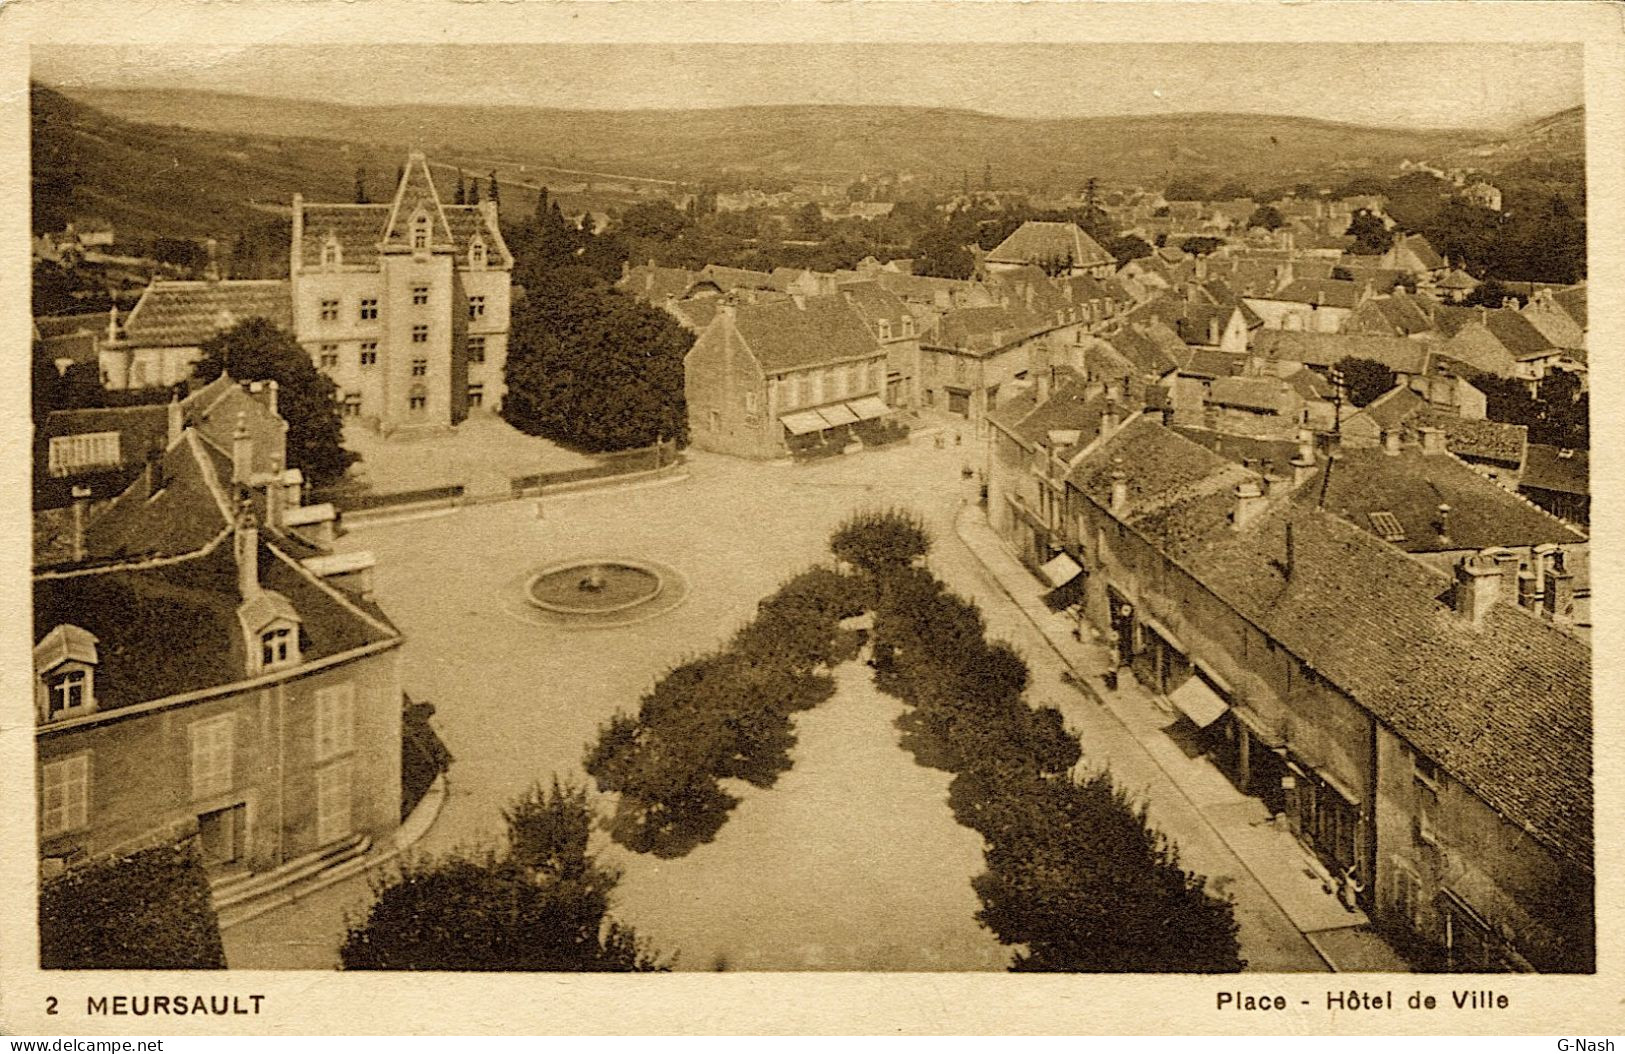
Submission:
POLYGON ((265 318, 249 318, 205 341, 202 351, 192 372, 205 383, 221 372, 239 382, 276 382, 276 413, 288 422, 288 468, 314 484, 330 484, 358 460, 344 450, 333 382, 292 336, 265 318))

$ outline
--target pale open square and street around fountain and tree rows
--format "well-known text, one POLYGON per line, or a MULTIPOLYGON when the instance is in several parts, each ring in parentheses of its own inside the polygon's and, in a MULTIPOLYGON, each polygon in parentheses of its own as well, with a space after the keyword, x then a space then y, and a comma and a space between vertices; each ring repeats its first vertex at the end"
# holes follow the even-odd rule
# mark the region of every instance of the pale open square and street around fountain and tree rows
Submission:
MULTIPOLYGON (((616 710, 634 710, 673 664, 726 640, 780 581, 827 560, 826 541, 852 510, 910 507, 933 531, 933 570, 982 606, 991 638, 1009 640, 1027 658, 1030 698, 1061 708, 1082 737, 1082 763, 1108 767, 1147 801, 1152 823, 1178 844, 1181 862, 1206 874, 1211 888, 1235 898, 1242 955, 1250 968, 1324 970, 1298 929, 1152 755, 1108 711, 1063 684, 1060 656, 959 539, 954 518, 964 502, 975 500, 962 469, 978 464, 980 456, 968 440, 956 445, 952 434, 942 448, 930 437, 916 437, 910 445, 814 466, 696 451, 691 476, 682 481, 541 503, 471 505, 353 531, 340 547, 377 555, 377 598, 408 637, 406 690, 436 705, 436 724, 455 757, 448 801, 418 851, 494 843, 509 801, 536 780, 582 778, 582 752, 601 721, 616 710), (611 630, 566 630, 523 617, 518 588, 528 570, 598 555, 674 567, 687 580, 687 598, 674 612, 611 630)), ((853 671, 863 667, 847 672, 853 671)), ((998 968, 1003 961, 991 939, 978 945, 970 921, 975 896, 968 882, 982 861, 973 851, 975 835, 952 825, 946 776, 908 771, 913 762, 895 741, 884 749, 874 744, 890 731, 892 710, 881 719, 874 700, 855 705, 858 689, 847 680, 826 710, 798 715, 803 739, 796 768, 769 791, 748 791, 715 843, 694 851, 694 867, 604 843, 606 859, 627 870, 618 918, 655 937, 661 950, 687 952, 678 968, 965 970, 998 968), (847 786, 848 797, 834 801, 830 791, 847 778, 879 783, 847 786), (806 802, 793 802, 798 788, 824 796, 824 807, 809 810, 806 802), (874 812, 874 823, 855 823, 864 810, 874 812), (873 851, 869 840, 881 832, 895 838, 907 830, 918 830, 921 844, 907 853, 873 851), (752 859, 744 851, 752 840, 795 844, 804 838, 816 843, 804 857, 752 859), (942 846, 944 859, 931 861, 934 870, 921 867, 921 846, 942 846), (702 859, 726 867, 700 869, 702 859), (686 880, 699 870, 705 870, 705 882, 686 880), (826 898, 829 918, 804 929, 775 929, 772 935, 751 929, 736 942, 713 935, 707 947, 676 947, 696 940, 692 934, 704 931, 705 919, 723 918, 734 903, 772 905, 793 890, 800 900, 786 906, 788 914, 804 919, 816 911, 811 890, 826 898), (933 890, 938 903, 926 908, 923 892, 933 890), (907 906, 889 900, 899 895, 905 895, 907 906), (957 929, 925 932, 918 919, 904 918, 921 909, 962 921, 957 929), (890 932, 887 919, 894 916, 897 929, 890 932), (804 947, 765 957, 774 940, 800 940, 804 947)), ((361 913, 367 901, 366 877, 320 890, 229 929, 228 960, 234 968, 332 968, 346 914, 361 913)), ((736 911, 731 918, 739 922, 749 914, 736 911)), ((774 926, 790 924, 775 919, 774 926)))

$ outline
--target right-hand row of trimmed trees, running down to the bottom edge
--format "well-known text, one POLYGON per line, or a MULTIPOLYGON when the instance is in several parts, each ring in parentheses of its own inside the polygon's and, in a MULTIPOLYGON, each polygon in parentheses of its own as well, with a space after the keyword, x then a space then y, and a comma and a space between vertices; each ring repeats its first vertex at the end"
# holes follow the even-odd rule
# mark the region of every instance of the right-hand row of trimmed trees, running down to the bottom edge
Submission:
POLYGON ((928 570, 908 515, 869 515, 835 536, 874 598, 874 667, 902 698, 904 744, 954 773, 954 817, 978 832, 986 872, 977 918, 1017 950, 1017 971, 1220 973, 1242 970, 1228 900, 1180 866, 1108 773, 1074 781, 1077 736, 1030 706, 1014 648, 986 640, 975 604, 928 570))

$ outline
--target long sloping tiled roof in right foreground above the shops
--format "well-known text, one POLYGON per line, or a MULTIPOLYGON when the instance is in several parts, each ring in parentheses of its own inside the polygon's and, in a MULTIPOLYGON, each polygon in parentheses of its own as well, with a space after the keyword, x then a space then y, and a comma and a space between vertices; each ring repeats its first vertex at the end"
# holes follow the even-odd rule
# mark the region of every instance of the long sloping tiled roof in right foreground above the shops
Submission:
POLYGON ((1441 601, 1445 575, 1295 502, 1214 534, 1188 567, 1503 817, 1591 866, 1583 641, 1510 604, 1472 625, 1441 601))

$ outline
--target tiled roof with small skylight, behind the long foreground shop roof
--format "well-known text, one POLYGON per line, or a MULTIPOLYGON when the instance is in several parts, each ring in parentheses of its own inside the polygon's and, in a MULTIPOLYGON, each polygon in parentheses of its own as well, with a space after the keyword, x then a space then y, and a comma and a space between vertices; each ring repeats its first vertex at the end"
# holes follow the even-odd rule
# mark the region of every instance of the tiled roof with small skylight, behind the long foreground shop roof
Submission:
POLYGON ((1365 529, 1372 529, 1372 513, 1393 513, 1404 529, 1404 538, 1393 544, 1406 552, 1586 541, 1575 528, 1456 458, 1424 455, 1415 447, 1398 455, 1380 448, 1342 450, 1329 473, 1323 466, 1294 499, 1313 505, 1321 495, 1328 512, 1365 529), (1440 505, 1450 505, 1445 523, 1440 505))

